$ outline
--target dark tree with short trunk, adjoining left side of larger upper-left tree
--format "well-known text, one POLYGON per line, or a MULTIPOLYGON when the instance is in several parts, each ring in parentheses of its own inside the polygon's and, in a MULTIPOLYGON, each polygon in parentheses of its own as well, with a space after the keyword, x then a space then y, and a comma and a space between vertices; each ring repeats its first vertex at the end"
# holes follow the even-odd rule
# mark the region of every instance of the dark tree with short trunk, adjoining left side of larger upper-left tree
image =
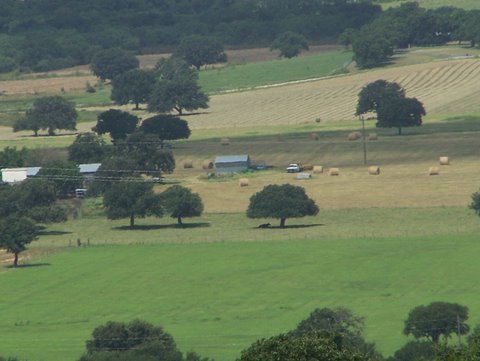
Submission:
POLYGON ((135 109, 140 103, 146 103, 155 84, 152 71, 132 69, 113 78, 111 98, 116 104, 132 102, 135 109))

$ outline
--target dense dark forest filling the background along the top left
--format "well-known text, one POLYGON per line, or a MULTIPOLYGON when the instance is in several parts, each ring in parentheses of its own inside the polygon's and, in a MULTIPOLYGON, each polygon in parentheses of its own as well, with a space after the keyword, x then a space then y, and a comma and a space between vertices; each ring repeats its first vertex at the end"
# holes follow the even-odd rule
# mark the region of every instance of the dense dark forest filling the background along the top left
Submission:
POLYGON ((331 41, 380 12, 370 0, 3 0, 0 72, 86 64, 113 47, 170 51, 192 34, 227 46, 269 45, 287 30, 331 41))

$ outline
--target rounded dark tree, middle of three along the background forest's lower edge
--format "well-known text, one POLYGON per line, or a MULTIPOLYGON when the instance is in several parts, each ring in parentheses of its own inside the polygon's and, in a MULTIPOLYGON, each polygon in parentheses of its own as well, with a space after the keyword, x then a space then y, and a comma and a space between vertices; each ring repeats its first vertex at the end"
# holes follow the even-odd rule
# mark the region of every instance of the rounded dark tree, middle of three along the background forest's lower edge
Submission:
POLYGON ((190 35, 180 41, 174 56, 200 69, 202 65, 224 63, 227 61, 223 45, 215 38, 190 35))

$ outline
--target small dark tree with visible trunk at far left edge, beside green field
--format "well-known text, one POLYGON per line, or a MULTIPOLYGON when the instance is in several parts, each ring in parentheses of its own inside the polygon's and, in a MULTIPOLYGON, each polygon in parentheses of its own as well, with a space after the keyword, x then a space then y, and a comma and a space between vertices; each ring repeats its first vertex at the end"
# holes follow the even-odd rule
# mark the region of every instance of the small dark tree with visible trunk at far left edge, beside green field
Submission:
POLYGON ((0 249, 13 253, 13 266, 18 265, 19 253, 37 238, 38 227, 27 217, 11 215, 0 219, 0 249))

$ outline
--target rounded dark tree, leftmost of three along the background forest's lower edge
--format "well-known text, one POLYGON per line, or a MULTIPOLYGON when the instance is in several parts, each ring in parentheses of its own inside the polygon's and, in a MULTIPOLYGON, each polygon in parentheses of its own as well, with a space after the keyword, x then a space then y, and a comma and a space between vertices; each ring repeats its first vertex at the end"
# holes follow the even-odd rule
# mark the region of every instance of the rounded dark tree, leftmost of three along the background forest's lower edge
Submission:
POLYGON ((93 73, 101 80, 113 79, 139 66, 138 59, 132 53, 119 49, 105 49, 96 53, 90 64, 93 73))

